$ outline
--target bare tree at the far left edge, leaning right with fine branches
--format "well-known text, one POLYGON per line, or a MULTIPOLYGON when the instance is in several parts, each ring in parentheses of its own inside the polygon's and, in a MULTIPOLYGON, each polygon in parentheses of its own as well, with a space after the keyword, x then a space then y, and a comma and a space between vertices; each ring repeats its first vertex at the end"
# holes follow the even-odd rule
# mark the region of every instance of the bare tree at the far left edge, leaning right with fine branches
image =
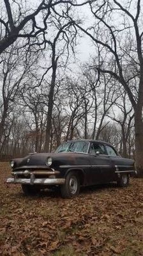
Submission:
MULTIPOLYGON (((9 48, 8 52, 1 54, 1 118, 0 118, 0 143, 3 146, 3 134, 7 118, 15 109, 15 101, 18 99, 20 89, 26 82, 29 68, 32 61, 26 61, 26 56, 20 52, 17 54, 15 45, 9 48), (25 60, 25 61, 24 61, 25 60)), ((1 147, 2 150, 2 147, 1 147)))

